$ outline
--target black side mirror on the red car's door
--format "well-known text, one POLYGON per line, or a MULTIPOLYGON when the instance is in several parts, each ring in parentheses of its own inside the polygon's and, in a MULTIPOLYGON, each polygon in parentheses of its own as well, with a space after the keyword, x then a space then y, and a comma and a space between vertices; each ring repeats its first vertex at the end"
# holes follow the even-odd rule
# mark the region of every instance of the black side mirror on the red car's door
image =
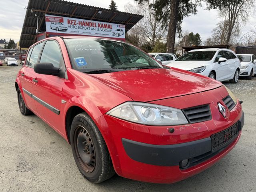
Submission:
POLYGON ((60 68, 54 67, 52 63, 36 63, 34 65, 34 72, 44 75, 59 76, 60 68))

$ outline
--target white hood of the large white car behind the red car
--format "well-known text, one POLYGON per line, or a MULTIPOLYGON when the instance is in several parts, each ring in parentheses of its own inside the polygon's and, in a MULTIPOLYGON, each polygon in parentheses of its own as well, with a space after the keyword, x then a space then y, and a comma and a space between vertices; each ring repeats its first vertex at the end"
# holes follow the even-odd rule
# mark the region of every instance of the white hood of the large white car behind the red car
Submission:
POLYGON ((194 68, 206 66, 210 64, 210 61, 174 61, 167 66, 175 67, 183 70, 191 70, 194 68))

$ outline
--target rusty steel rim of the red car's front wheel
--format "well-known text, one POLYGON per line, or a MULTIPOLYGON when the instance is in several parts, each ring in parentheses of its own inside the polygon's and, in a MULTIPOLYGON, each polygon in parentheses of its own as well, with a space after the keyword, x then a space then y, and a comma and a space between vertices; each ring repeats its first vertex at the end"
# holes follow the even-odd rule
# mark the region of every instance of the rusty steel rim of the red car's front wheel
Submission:
POLYGON ((93 172, 96 163, 94 144, 89 132, 81 125, 75 128, 74 148, 83 170, 93 172))

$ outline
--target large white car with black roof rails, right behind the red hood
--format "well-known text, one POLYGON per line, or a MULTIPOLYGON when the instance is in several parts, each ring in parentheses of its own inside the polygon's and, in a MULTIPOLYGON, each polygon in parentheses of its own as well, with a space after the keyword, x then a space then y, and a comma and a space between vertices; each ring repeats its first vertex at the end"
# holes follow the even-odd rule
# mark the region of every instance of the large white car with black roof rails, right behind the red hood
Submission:
POLYGON ((218 81, 237 83, 240 60, 229 49, 197 49, 186 52, 167 66, 195 72, 218 81))

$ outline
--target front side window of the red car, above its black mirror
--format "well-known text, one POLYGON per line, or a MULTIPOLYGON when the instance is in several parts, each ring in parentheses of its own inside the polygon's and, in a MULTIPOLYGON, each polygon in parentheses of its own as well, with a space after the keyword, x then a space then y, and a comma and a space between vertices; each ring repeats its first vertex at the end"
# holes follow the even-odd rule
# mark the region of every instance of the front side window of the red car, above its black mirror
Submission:
POLYGON ((55 41, 46 41, 40 62, 52 63, 54 67, 60 67, 62 54, 60 47, 55 41))

